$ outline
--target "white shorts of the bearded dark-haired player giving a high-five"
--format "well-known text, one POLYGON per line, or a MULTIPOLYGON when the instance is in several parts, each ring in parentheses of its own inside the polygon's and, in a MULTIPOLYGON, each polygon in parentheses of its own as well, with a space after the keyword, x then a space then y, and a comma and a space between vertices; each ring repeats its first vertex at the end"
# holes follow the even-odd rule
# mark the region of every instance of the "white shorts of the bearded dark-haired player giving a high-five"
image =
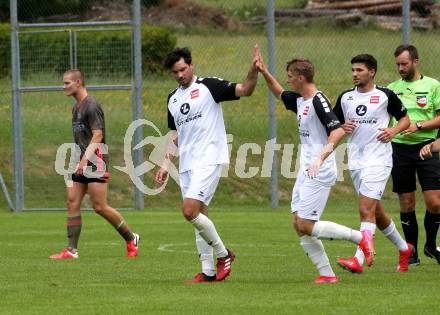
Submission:
POLYGON ((183 199, 200 200, 208 206, 217 189, 221 170, 221 165, 210 165, 181 173, 179 177, 183 199))

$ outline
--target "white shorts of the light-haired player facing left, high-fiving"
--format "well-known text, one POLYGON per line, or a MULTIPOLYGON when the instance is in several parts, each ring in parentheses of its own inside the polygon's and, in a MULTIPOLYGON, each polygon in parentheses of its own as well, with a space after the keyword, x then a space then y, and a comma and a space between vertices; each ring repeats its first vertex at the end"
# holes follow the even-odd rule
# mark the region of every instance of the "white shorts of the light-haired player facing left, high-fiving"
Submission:
POLYGON ((292 213, 301 219, 318 221, 324 212, 331 185, 324 185, 300 173, 292 191, 292 213))

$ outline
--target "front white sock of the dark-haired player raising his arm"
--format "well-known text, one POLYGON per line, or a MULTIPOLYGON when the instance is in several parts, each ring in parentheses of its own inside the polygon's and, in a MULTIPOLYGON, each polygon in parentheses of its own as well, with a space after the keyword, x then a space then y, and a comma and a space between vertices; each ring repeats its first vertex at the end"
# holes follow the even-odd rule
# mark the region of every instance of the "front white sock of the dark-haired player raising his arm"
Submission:
POLYGON ((191 220, 191 224, 197 231, 199 231, 200 236, 206 241, 206 243, 212 246, 214 254, 217 257, 228 256, 228 252, 215 229, 214 223, 212 223, 206 215, 199 213, 195 219, 191 220))

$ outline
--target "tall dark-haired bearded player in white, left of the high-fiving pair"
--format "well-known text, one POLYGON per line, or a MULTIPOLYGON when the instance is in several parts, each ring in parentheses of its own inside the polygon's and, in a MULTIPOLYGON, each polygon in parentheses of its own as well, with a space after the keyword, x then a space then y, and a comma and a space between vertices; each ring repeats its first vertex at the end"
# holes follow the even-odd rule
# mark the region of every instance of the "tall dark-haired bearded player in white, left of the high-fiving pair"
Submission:
MULTIPOLYGON (((202 264, 202 272, 189 283, 222 281, 231 272, 235 255, 225 247, 208 218, 208 205, 219 182, 221 165, 229 163, 220 102, 252 94, 258 77, 257 53, 258 46, 254 49, 252 65, 243 83, 197 77, 188 48, 174 49, 165 61, 166 68, 179 83, 168 96, 168 127, 177 131, 174 143, 179 150, 182 212, 194 226, 202 264), (214 256, 217 257, 217 266, 214 256)), ((161 184, 166 180, 167 163, 174 155, 172 150, 167 150, 165 163, 156 173, 156 182, 161 184)))

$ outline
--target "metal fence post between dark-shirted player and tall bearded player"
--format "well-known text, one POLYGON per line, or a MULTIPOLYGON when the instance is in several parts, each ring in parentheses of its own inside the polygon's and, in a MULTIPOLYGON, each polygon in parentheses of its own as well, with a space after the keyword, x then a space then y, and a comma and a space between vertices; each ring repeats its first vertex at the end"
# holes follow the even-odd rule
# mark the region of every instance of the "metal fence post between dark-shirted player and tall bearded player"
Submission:
MULTIPOLYGON (((141 3, 140 0, 133 0, 133 57, 134 57, 134 82, 132 97, 133 121, 143 118, 142 115, 142 46, 141 46, 141 3)), ((142 127, 137 128, 134 134, 134 142, 140 143, 143 139, 142 127)), ((144 156, 143 149, 139 148, 133 152, 134 166, 142 164, 144 156)), ((144 176, 139 175, 143 181, 144 176)), ((134 188, 134 206, 135 209, 144 208, 144 195, 142 191, 134 188)))

